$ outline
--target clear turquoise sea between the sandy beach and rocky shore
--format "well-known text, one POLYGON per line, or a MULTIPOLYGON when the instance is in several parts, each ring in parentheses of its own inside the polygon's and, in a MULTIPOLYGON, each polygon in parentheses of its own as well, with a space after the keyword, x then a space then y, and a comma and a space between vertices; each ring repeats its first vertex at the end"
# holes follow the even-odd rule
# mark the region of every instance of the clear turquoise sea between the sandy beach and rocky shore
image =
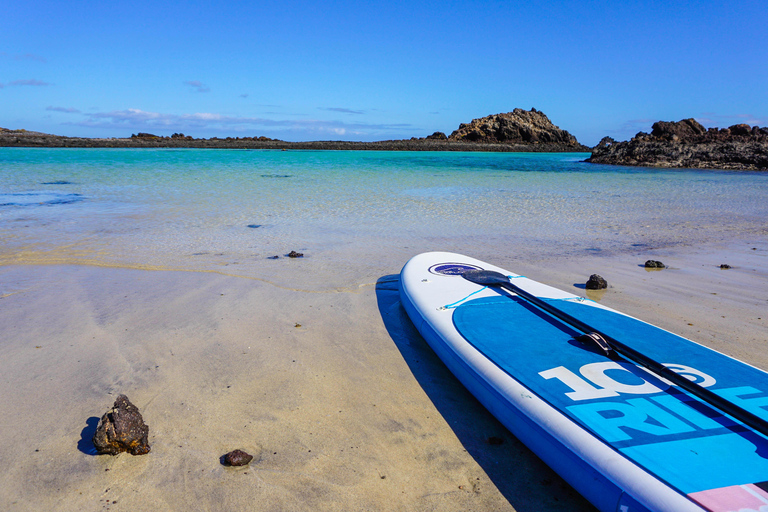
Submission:
POLYGON ((397 272, 426 250, 536 260, 768 233, 768 173, 587 156, 0 148, 0 264, 290 275, 286 285, 322 288, 397 272))

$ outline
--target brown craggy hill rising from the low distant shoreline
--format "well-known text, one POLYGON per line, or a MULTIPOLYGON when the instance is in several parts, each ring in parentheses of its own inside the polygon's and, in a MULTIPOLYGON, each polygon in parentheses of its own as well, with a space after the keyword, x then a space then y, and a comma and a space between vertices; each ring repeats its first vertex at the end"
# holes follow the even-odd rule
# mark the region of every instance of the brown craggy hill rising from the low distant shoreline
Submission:
POLYGON ((449 140, 466 142, 495 142, 506 144, 558 144, 582 146, 576 137, 561 130, 549 118, 535 108, 530 111, 516 108, 506 114, 494 114, 471 123, 462 123, 449 140))

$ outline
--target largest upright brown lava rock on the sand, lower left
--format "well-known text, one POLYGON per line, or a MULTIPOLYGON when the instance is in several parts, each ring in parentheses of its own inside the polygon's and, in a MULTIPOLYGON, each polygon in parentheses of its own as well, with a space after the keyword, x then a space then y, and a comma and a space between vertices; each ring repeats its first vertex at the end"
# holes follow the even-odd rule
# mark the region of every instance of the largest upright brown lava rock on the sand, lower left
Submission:
POLYGON ((129 452, 131 455, 149 453, 149 427, 144 423, 139 409, 128 397, 120 395, 112 409, 99 420, 93 434, 93 446, 99 453, 117 455, 129 452))

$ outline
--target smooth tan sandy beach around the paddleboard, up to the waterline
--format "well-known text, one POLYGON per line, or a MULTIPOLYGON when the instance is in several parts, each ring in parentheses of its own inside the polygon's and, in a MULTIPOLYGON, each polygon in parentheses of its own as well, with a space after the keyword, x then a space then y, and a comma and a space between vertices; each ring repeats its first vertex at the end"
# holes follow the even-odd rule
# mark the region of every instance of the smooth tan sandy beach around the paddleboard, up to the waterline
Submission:
MULTIPOLYGON (((610 287, 590 298, 768 369, 766 243, 485 259, 584 294, 599 273, 610 287)), ((0 509, 590 510, 419 337, 399 304, 404 261, 391 263, 311 291, 0 267, 0 509), (119 393, 149 424, 148 455, 93 454, 119 393), (235 448, 256 455, 249 467, 220 464, 235 448)))

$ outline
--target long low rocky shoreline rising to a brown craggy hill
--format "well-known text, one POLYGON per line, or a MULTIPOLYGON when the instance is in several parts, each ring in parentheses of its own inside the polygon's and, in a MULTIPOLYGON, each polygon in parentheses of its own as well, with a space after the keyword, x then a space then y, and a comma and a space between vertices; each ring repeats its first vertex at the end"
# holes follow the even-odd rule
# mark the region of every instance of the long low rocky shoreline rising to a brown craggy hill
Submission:
POLYGON ((0 128, 0 147, 72 148, 221 148, 221 149, 332 149, 394 151, 589 151, 576 137, 561 130, 532 108, 516 108, 471 123, 462 123, 450 136, 435 132, 426 137, 377 142, 311 141, 287 142, 268 137, 193 138, 183 133, 159 136, 137 133, 126 138, 85 138, 50 135, 27 130, 0 128))

